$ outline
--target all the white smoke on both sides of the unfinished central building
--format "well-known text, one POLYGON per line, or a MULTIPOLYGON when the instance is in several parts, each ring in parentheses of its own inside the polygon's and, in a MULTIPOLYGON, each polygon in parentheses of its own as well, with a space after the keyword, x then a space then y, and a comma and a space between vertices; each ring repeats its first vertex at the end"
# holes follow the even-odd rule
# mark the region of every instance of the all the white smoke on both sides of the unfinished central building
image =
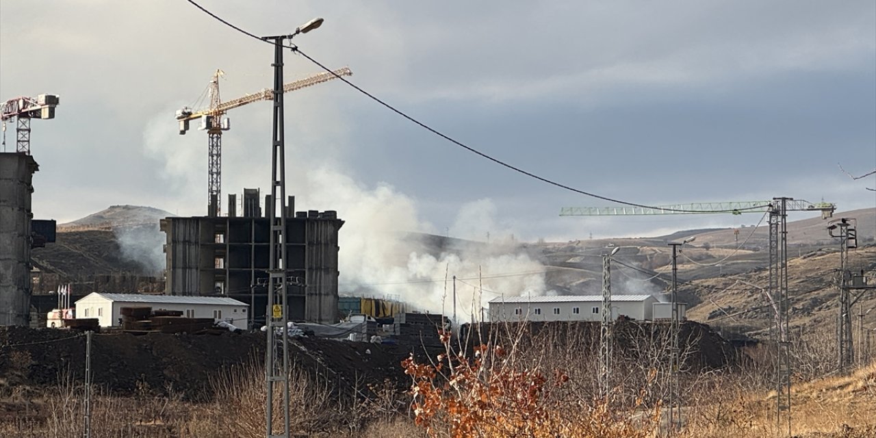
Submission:
MULTIPOLYGON (((206 180, 206 138, 194 130, 180 137, 168 114, 173 112, 168 109, 147 124, 145 152, 165 163, 161 176, 173 188, 169 200, 182 206, 177 209, 180 215, 202 215, 191 206, 205 204, 201 187, 206 180)), ((241 154, 240 159, 223 163, 225 193, 239 191, 228 187, 265 188, 267 169, 261 163, 270 163, 270 156, 253 155, 254 150, 235 144, 230 137, 223 142, 226 158, 241 154), (244 157, 247 163, 258 165, 241 166, 238 161, 244 157)), ((343 163, 320 157, 321 148, 294 147, 296 153, 287 154, 286 193, 295 195, 295 209, 336 210, 345 221, 339 235, 340 293, 389 295, 414 309, 451 314, 452 277, 456 275, 460 321, 468 321, 471 314, 479 316, 480 308, 498 296, 545 293, 544 266, 513 241, 513 230, 496 220, 490 200, 461 205, 452 227, 456 238, 442 239, 434 236, 439 234, 434 225, 420 217, 417 201, 401 190, 386 183, 368 187, 343 172, 343 163), (307 156, 307 162, 292 156, 307 156), (481 290, 481 278, 483 297, 474 287, 481 290)), ((167 207, 173 211, 173 206, 167 207)), ((160 244, 157 247, 160 251, 160 244)))

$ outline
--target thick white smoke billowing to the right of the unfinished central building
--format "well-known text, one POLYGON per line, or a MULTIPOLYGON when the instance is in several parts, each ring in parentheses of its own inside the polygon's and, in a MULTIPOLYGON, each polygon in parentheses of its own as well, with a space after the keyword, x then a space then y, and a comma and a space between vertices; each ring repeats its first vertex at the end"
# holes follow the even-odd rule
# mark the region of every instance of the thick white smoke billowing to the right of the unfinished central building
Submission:
POLYGON ((308 208, 318 200, 319 209, 336 209, 346 221, 339 237, 342 293, 388 295, 423 311, 452 314, 456 276, 460 321, 479 317, 498 296, 545 293, 544 266, 495 225, 489 200, 464 204, 457 214, 454 234, 484 236, 474 242, 416 234, 434 233, 434 226, 420 218, 415 200, 386 184, 364 187, 334 168, 307 172, 300 199, 308 208), (505 238, 487 244, 486 230, 505 238))

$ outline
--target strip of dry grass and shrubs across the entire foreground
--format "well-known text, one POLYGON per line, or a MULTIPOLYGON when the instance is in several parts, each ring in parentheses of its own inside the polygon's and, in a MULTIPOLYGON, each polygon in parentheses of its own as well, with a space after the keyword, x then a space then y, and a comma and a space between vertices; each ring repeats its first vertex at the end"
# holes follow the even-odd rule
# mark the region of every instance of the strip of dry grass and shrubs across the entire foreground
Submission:
MULTIPOLYGON (((523 330, 523 329, 520 329, 523 330)), ((639 352, 651 361, 620 357, 609 399, 595 399, 597 345, 565 331, 528 336, 507 332, 475 356, 446 345, 436 362, 409 362, 413 394, 385 383, 362 382, 338 393, 329 382, 297 367, 289 377, 292 432, 300 436, 469 437, 564 436, 646 438, 660 434, 661 340, 639 352), (588 353, 590 352, 590 353, 588 353), (365 389, 368 391, 364 391, 365 389), (364 392, 371 394, 364 396, 364 392), (412 398, 413 395, 413 398, 412 398), (417 422, 409 417, 413 399, 417 422), (419 426, 418 426, 419 424, 419 426)), ((650 345, 650 346, 648 346, 650 345)), ((689 438, 777 436, 769 349, 753 350, 743 370, 687 373, 682 379, 689 438)), ((828 359, 816 354, 801 370, 828 359)), ((824 351, 824 354, 830 351, 824 351)), ((28 357, 14 363, 30 364, 28 357)), ((11 376, 17 374, 12 373, 11 376)), ((66 376, 48 392, 0 382, 0 436, 69 437, 82 434, 83 388, 66 376)), ((228 438, 265 435, 264 371, 258 362, 213 379, 215 399, 192 403, 142 391, 130 397, 97 392, 92 405, 95 438, 228 438)), ((876 436, 876 363, 848 376, 809 379, 792 391, 794 434, 805 438, 876 436), (868 428, 869 427, 869 428, 868 428)), ((278 410, 276 419, 281 418, 278 410)))

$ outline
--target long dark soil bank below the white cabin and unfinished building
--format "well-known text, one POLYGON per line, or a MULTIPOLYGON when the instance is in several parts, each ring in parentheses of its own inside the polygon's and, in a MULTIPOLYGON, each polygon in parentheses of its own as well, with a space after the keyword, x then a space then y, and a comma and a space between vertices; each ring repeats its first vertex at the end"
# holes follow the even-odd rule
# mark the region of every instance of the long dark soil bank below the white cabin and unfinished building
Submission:
MULTIPOLYGON (((314 378, 344 392, 356 385, 410 385, 401 361, 421 347, 350 343, 311 337, 295 338, 290 361, 314 378)), ((437 354, 435 351, 434 354, 437 354)), ((66 379, 82 382, 86 336, 58 329, 0 328, 0 380, 9 386, 49 387, 66 379)), ((212 397, 210 378, 232 365, 262 364, 263 333, 233 334, 95 334, 91 370, 95 385, 117 395, 176 394, 189 400, 212 397)), ((2 393, 0 393, 2 395, 2 393)))

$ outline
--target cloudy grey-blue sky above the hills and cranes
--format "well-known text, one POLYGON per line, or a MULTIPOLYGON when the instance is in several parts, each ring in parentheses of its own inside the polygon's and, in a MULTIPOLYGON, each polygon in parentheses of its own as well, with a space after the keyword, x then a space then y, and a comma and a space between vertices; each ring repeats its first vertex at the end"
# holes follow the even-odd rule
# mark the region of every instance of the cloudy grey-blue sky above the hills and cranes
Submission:
MULTIPOLYGON (((450 137, 591 193, 876 206, 865 190, 876 176, 837 168, 876 167, 872 0, 199 3, 258 35, 325 18, 295 39, 302 51, 450 137)), ((207 136, 178 135, 173 112, 216 68, 223 99, 270 87, 272 55, 185 0, 4 0, 0 98, 61 101, 56 119, 32 124, 35 216, 63 223, 113 204, 205 214, 207 136)), ((286 53, 287 81, 319 71, 286 53)), ((267 189, 271 104, 229 116, 223 198, 267 189)), ((496 166, 340 81, 286 95, 286 135, 298 209, 348 223, 399 215, 399 227, 457 237, 571 239, 759 219, 559 217, 608 203, 496 166)))

